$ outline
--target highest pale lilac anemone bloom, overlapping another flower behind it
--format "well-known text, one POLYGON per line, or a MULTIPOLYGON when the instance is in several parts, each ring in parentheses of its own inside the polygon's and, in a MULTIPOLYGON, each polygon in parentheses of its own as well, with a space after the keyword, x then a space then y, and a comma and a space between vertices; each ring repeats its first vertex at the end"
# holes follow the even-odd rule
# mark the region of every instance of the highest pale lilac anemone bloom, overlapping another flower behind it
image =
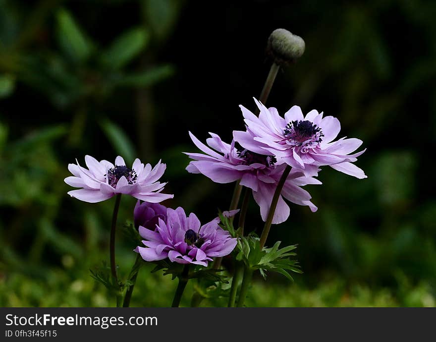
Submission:
POLYGON ((242 147, 263 155, 274 155, 279 164, 286 163, 312 175, 323 165, 355 176, 366 178, 365 172, 354 164, 366 150, 350 154, 362 140, 336 138, 340 131, 339 120, 333 116, 310 111, 306 116, 300 107, 293 106, 281 117, 275 108, 267 109, 255 99, 259 117, 243 106, 247 130, 233 131, 233 138, 242 147))

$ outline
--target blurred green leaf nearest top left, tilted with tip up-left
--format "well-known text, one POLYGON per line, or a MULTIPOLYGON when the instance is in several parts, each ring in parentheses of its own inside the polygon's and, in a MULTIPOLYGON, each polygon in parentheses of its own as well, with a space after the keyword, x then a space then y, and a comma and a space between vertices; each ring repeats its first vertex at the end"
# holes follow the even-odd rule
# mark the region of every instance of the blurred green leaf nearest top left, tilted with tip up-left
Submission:
POLYGON ((66 9, 59 9, 56 13, 56 22, 56 36, 63 52, 74 62, 83 62, 90 57, 92 44, 71 13, 66 9))

